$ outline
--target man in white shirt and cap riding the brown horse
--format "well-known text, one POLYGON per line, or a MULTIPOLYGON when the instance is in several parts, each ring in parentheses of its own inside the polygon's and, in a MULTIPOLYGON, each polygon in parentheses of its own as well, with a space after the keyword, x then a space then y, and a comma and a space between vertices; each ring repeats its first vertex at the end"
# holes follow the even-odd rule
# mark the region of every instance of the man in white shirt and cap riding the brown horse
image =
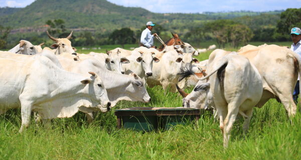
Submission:
POLYGON ((141 33, 140 46, 147 48, 154 47, 154 36, 158 36, 157 33, 152 35, 152 30, 155 25, 156 24, 153 24, 152 21, 146 23, 146 28, 141 33))

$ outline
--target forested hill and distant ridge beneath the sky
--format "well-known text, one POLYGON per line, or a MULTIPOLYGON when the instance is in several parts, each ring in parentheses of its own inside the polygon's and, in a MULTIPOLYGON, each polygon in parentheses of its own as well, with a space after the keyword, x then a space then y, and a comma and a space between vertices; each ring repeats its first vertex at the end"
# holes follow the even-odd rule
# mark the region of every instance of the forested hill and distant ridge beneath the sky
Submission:
MULTIPOLYGON (((260 12, 256 12, 255 15, 259 14, 260 12)), ((93 28, 98 32, 105 32, 121 27, 140 29, 146 21, 152 20, 169 30, 185 31, 201 26, 208 20, 243 15, 246 14, 154 13, 141 7, 116 5, 107 0, 35 0, 25 8, 0 8, 0 24, 11 26, 18 32, 18 28, 39 30, 39 27, 45 28, 47 20, 63 19, 67 28, 93 28)))

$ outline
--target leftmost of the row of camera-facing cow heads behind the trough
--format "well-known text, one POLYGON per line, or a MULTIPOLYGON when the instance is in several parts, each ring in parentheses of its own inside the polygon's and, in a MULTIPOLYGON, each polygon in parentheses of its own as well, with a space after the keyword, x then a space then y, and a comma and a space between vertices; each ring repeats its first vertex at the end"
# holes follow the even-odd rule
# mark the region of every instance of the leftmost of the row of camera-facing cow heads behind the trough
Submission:
POLYGON ((126 57, 121 57, 119 54, 119 49, 116 53, 112 51, 106 51, 108 57, 105 58, 106 67, 108 70, 114 71, 116 73, 124 74, 124 69, 122 68, 122 63, 129 63, 129 60, 126 57))

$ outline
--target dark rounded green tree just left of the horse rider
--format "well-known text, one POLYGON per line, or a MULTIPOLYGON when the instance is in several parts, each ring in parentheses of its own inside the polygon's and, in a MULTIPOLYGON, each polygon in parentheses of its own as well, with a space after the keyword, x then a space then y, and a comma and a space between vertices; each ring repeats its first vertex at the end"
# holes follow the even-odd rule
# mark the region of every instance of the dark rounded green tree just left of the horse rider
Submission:
POLYGON ((110 35, 109 39, 113 41, 114 44, 132 44, 135 42, 134 31, 130 28, 115 29, 110 35))

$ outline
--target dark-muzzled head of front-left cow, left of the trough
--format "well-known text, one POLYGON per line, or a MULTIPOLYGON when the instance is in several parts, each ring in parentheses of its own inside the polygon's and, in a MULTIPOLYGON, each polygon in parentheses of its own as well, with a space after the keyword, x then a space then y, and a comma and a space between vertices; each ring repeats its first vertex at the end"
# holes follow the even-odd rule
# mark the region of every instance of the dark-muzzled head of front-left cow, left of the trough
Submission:
POLYGON ((96 106, 101 112, 110 110, 111 102, 109 101, 107 91, 102 80, 95 72, 89 72, 90 78, 81 80, 81 83, 88 86, 88 93, 92 100, 92 106, 96 106))

